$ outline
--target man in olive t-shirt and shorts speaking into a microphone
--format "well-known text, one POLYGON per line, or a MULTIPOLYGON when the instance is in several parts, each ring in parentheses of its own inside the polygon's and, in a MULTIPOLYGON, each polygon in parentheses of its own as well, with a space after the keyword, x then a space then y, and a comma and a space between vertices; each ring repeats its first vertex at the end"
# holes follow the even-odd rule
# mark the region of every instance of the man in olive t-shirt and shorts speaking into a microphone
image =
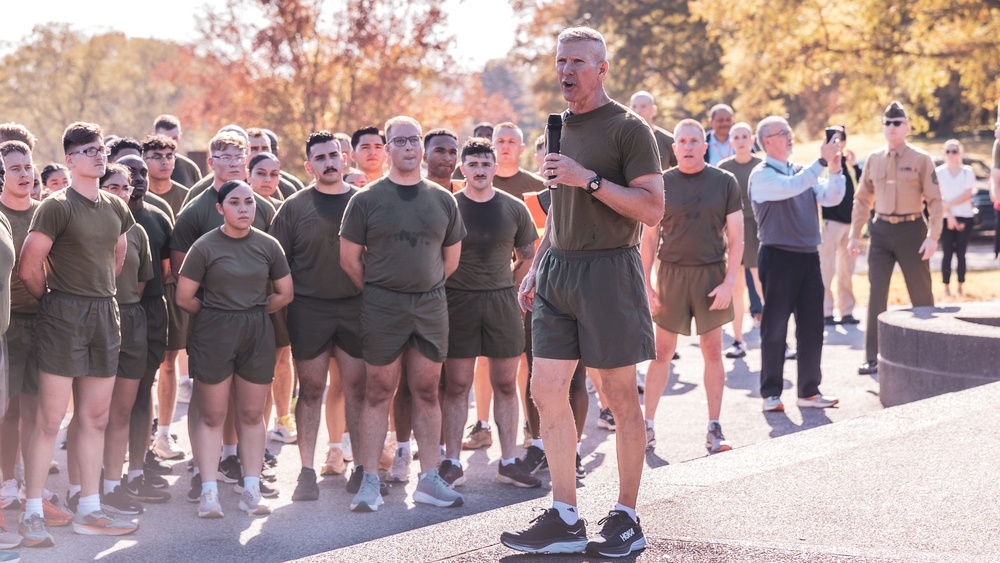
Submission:
POLYGON ((627 555, 646 545, 635 514, 646 442, 635 364, 654 357, 654 343, 638 246, 641 224, 654 227, 663 216, 663 177, 649 126, 604 90, 607 58, 597 31, 559 34, 556 75, 569 109, 562 153, 545 157, 545 185, 556 189, 519 292, 522 308, 534 309, 532 389, 553 506, 531 527, 500 536, 532 553, 627 555), (601 373, 618 432, 618 503, 602 520, 601 537, 589 543, 576 508, 568 396, 578 360, 601 373))

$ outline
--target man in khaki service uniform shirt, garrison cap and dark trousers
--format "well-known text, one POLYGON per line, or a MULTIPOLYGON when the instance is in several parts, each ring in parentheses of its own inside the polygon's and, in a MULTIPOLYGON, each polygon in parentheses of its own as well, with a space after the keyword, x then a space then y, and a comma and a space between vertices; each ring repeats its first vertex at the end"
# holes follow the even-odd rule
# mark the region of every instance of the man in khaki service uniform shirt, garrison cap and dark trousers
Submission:
POLYGON ((882 114, 882 132, 887 146, 868 155, 854 195, 851 238, 847 249, 861 253, 858 239, 875 207, 869 232, 868 325, 865 330, 865 363, 861 375, 878 371, 878 316, 889 300, 892 270, 899 264, 906 290, 914 307, 934 306, 931 292, 930 259, 941 235, 941 188, 934 173, 934 161, 926 152, 906 142, 910 120, 903 105, 893 101, 882 114), (924 205, 929 214, 924 222, 924 205))

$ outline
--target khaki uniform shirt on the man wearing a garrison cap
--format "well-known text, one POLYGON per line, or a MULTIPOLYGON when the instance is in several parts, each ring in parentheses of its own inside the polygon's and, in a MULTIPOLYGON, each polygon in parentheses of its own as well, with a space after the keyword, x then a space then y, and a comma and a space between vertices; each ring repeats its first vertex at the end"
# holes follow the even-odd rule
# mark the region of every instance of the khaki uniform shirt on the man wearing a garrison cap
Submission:
POLYGON ((910 215, 923 213, 924 202, 930 214, 927 238, 937 240, 941 236, 941 189, 934 161, 926 152, 909 144, 874 151, 868 155, 859 183, 854 194, 851 238, 861 237, 873 204, 879 215, 910 215))

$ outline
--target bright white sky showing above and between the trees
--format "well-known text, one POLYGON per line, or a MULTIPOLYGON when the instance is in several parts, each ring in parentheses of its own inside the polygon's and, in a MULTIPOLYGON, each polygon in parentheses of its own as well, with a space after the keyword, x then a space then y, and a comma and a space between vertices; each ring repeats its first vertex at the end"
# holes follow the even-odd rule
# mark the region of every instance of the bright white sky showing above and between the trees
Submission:
MULTIPOLYGON (((20 41, 36 25, 58 21, 87 33, 113 29, 132 37, 190 41, 195 38, 195 15, 203 12, 203 6, 216 3, 223 0, 115 3, 114 8, 81 0, 29 1, 20 3, 16 17, 3 23, 2 40, 9 47, 9 42, 20 41)), ((480 70, 486 61, 506 56, 513 47, 515 22, 508 0, 445 0, 445 6, 455 36, 455 57, 463 68, 480 70)))

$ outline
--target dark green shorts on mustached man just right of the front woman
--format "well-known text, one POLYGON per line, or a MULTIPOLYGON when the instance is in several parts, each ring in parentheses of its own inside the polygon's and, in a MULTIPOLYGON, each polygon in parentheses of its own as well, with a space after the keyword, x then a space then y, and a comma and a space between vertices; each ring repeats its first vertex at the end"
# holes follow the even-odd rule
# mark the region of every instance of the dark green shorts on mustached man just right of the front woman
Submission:
POLYGON ((288 305, 292 356, 311 360, 334 346, 354 358, 361 349, 361 296, 318 299, 296 295, 288 305))

